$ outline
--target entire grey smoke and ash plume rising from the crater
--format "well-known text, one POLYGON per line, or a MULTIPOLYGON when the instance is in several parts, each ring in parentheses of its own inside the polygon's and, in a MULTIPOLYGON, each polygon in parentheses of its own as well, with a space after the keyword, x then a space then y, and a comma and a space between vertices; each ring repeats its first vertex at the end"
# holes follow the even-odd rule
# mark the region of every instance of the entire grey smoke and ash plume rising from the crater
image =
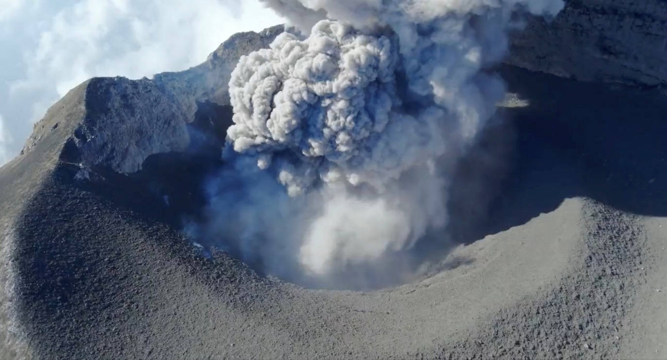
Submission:
POLYGON ((504 96, 490 67, 506 31, 562 0, 264 1, 309 35, 233 71, 206 236, 310 285, 400 276, 402 254, 446 225, 454 164, 504 96))

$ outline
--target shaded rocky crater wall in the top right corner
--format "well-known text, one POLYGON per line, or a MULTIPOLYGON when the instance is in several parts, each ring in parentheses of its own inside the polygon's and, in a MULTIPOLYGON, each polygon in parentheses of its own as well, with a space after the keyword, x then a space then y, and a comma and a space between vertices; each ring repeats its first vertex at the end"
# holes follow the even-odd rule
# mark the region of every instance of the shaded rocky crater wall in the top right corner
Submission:
POLYGON ((568 0, 514 34, 507 61, 582 81, 667 84, 667 1, 568 0))

